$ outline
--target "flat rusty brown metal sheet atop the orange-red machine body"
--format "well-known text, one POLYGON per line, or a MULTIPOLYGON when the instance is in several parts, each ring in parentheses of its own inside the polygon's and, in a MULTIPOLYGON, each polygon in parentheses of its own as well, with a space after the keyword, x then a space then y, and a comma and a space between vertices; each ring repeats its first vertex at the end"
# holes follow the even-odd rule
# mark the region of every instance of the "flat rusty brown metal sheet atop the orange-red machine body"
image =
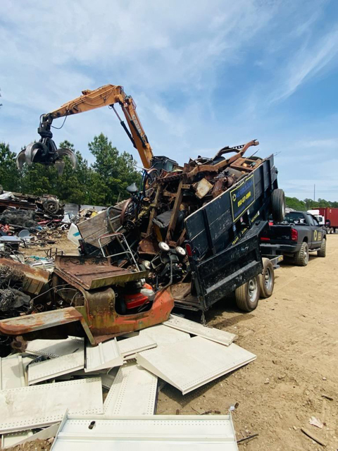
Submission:
POLYGON ((118 285, 148 276, 149 271, 137 271, 113 266, 104 257, 58 255, 55 273, 79 283, 87 290, 118 285))

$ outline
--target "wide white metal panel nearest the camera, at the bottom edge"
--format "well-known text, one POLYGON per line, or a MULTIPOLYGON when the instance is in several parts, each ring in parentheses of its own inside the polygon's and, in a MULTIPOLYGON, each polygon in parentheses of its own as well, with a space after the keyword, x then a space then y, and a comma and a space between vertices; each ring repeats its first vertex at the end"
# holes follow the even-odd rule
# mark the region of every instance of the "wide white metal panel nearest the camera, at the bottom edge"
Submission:
POLYGON ((230 415, 69 416, 53 451, 238 451, 230 415), (92 424, 92 428, 89 426, 92 424))

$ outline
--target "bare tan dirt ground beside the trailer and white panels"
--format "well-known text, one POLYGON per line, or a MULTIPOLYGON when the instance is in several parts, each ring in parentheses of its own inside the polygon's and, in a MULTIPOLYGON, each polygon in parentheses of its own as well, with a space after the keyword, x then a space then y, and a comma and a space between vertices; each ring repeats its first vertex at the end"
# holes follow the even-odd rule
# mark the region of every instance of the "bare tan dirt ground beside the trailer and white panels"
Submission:
MULTIPOLYGON (((252 313, 242 314, 234 302, 208 311, 208 326, 236 333, 237 345, 257 359, 185 396, 165 385, 157 414, 227 414, 236 406, 237 440, 258 433, 240 443, 240 450, 322 450, 302 427, 323 440, 325 449, 338 450, 338 234, 327 240, 325 259, 311 257, 305 268, 283 264, 275 272, 273 296, 261 299, 252 313), (311 416, 323 429, 309 424, 311 416)), ((66 238, 58 247, 75 250, 66 238)), ((49 448, 39 445, 38 450, 49 448)))

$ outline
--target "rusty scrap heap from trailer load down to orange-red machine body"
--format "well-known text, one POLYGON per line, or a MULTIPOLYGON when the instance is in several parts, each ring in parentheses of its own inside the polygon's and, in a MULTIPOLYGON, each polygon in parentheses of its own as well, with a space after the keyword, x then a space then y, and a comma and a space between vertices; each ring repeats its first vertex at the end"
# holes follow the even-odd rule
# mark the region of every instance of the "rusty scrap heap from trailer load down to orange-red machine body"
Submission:
MULTIPOLYGON (((189 245, 184 249, 185 221, 261 165, 263 160, 256 156, 244 157, 244 152, 257 144, 254 140, 225 147, 213 159, 199 157, 183 168, 166 159, 165 169, 161 161, 161 171, 155 157, 142 189, 129 187, 130 199, 77 226, 71 224, 68 237, 78 243, 80 255, 56 252, 51 274, 27 274, 27 265, 20 265, 33 285, 36 277, 44 283, 23 290, 32 298, 29 317, 22 311, 10 319, 2 315, 0 333, 12 339, 30 333, 49 336, 48 328, 62 325, 58 333, 87 336, 95 345, 166 321, 174 299, 192 298, 194 302, 192 250, 189 245), (227 154, 232 156, 226 159, 227 154)), ((208 254, 198 257, 203 260, 208 254)), ((3 264, 10 265, 11 260, 5 259, 3 264)))

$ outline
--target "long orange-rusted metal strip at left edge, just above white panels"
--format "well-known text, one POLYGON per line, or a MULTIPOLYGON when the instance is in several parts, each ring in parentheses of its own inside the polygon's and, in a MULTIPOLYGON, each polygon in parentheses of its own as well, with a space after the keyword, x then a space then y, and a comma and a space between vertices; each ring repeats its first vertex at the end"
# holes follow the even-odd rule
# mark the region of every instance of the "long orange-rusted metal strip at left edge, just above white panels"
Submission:
POLYGON ((66 307, 65 309, 1 319, 0 333, 4 335, 23 335, 24 333, 34 332, 35 330, 81 321, 81 319, 82 314, 77 309, 66 307))

